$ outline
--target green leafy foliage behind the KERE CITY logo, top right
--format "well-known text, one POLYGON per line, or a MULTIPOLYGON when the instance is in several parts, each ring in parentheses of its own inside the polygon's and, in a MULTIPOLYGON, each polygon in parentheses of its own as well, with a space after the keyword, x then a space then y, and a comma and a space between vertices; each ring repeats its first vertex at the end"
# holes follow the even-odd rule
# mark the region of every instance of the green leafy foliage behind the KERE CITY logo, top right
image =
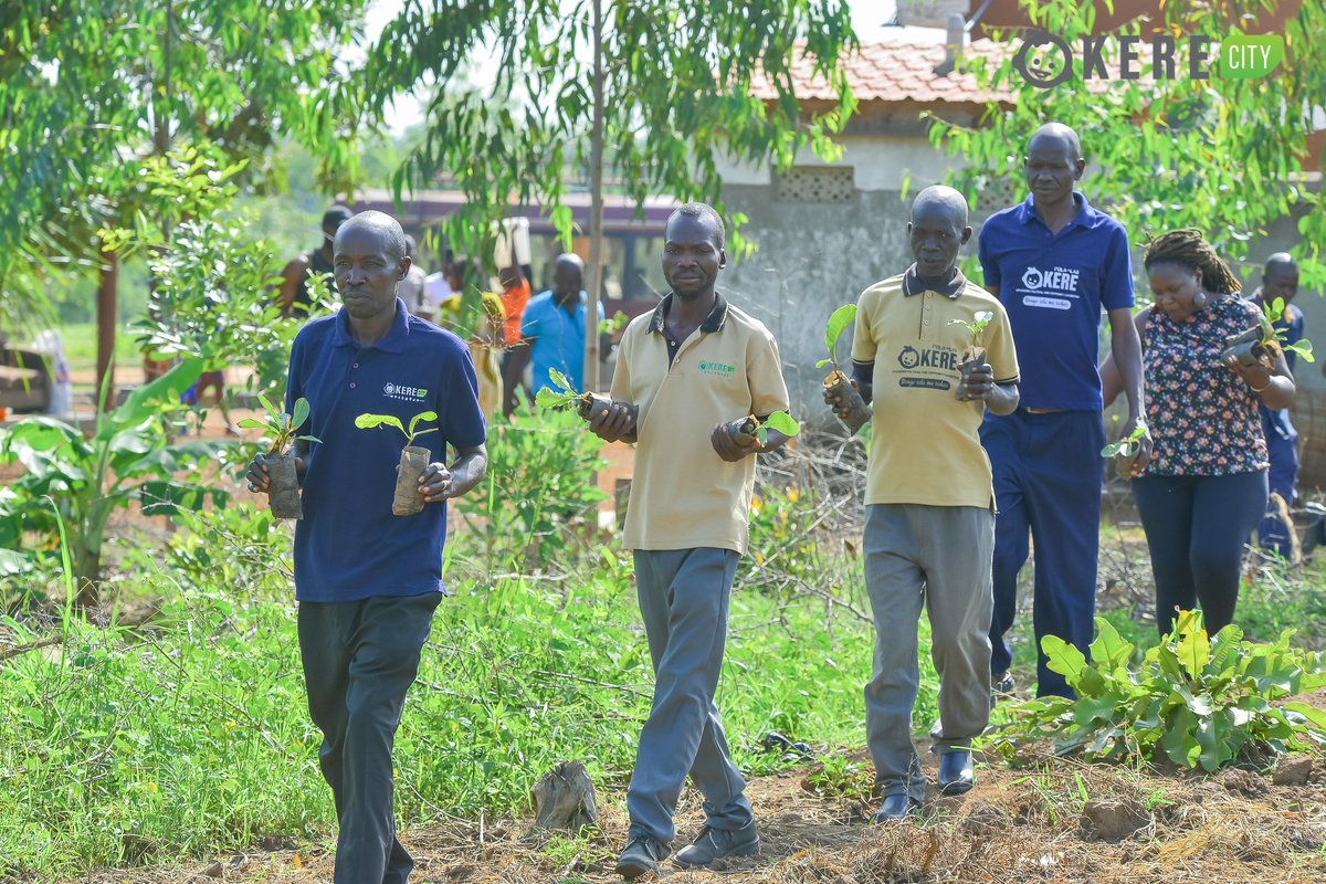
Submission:
MULTIPOLYGON (((1301 261, 1307 289, 1326 285, 1326 208, 1318 192, 1305 186, 1307 135, 1317 129, 1326 97, 1326 42, 1319 40, 1326 21, 1326 0, 1303 0, 1284 29, 1285 61, 1268 77, 1221 76, 1219 44, 1258 13, 1276 8, 1274 0, 1196 0, 1160 4, 1160 25, 1176 36, 1175 77, 1152 78, 1151 30, 1139 23, 1120 34, 1142 34, 1139 80, 1111 80, 1106 89, 1083 81, 1082 37, 1093 33, 1093 4, 1067 0, 1022 0, 1033 28, 1063 38, 1074 48, 1069 80, 1050 89, 1026 82, 1010 52, 997 64, 969 62, 979 82, 1012 90, 1010 101, 991 102, 976 126, 940 118, 931 139, 960 160, 952 183, 973 204, 992 180, 1022 178, 1022 155, 1032 133, 1049 121, 1077 130, 1083 151, 1098 163, 1081 184, 1087 196, 1107 207, 1142 243, 1168 229, 1200 228, 1227 257, 1242 258, 1248 243, 1266 233, 1276 219, 1298 213, 1301 261), (1209 78, 1188 76, 1187 37, 1204 34, 1209 78)), ((1106 64, 1118 64, 1118 41, 1105 44, 1106 64)), ((1001 208, 983 205, 981 208, 1001 208)))

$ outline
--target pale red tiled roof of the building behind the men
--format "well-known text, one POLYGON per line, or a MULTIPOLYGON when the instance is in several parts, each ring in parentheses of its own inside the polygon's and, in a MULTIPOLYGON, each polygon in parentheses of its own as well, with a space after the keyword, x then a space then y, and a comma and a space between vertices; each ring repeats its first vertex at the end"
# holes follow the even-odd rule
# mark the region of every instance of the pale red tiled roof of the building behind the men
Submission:
MULTIPOLYGON (((998 64, 1002 53, 1010 52, 1008 44, 980 40, 963 50, 964 58, 981 57, 988 65, 998 64)), ((919 103, 985 103, 987 101, 1013 101, 1013 93, 1006 86, 996 90, 980 89, 976 76, 953 72, 936 74, 935 68, 944 61, 944 44, 876 42, 863 44, 861 49, 845 58, 843 65, 853 94, 862 105, 867 102, 919 102, 919 103)), ((800 101, 834 101, 830 85, 823 77, 817 77, 810 60, 798 57, 792 65, 792 82, 800 101)), ((777 97, 773 85, 757 78, 752 83, 757 98, 772 101, 777 97)))

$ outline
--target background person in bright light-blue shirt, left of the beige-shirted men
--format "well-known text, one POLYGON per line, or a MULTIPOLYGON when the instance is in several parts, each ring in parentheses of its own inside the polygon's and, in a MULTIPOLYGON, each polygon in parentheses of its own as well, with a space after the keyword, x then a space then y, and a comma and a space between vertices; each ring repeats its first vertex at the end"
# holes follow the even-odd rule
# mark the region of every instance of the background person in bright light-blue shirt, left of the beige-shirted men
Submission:
MULTIPOLYGON (((530 395, 553 386, 552 368, 566 375, 577 391, 583 391, 585 311, 589 302, 583 280, 585 262, 579 256, 561 254, 553 268, 553 288, 525 305, 520 337, 529 346, 534 375, 530 395)), ((602 304, 598 305, 598 321, 603 321, 602 304)))

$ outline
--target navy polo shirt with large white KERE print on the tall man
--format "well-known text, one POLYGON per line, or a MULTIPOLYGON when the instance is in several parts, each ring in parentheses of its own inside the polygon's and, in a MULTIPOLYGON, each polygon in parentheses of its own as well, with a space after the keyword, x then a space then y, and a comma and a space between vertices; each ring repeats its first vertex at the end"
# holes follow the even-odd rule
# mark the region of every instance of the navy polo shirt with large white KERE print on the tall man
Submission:
POLYGON ((1053 235, 1030 196, 991 215, 979 252, 1013 329, 1021 404, 1101 411, 1101 309, 1132 306, 1132 258, 1123 225, 1073 199, 1077 217, 1053 235))

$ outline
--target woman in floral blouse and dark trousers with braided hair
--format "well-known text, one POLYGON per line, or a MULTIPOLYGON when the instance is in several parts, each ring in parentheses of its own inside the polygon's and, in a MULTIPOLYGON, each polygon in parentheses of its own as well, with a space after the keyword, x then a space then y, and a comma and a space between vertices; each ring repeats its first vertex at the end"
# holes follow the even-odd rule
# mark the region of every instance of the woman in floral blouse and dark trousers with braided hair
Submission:
MULTIPOLYGON (((1288 408, 1294 378, 1276 354, 1221 360, 1229 338, 1258 325, 1256 305, 1201 232, 1166 233, 1144 254, 1154 304, 1135 317, 1144 350, 1150 463, 1132 470, 1147 534, 1156 627, 1197 602, 1207 631, 1233 620, 1244 541, 1266 509, 1266 439, 1257 412, 1288 408)), ((1120 392, 1113 358, 1101 366, 1105 402, 1120 392)))

